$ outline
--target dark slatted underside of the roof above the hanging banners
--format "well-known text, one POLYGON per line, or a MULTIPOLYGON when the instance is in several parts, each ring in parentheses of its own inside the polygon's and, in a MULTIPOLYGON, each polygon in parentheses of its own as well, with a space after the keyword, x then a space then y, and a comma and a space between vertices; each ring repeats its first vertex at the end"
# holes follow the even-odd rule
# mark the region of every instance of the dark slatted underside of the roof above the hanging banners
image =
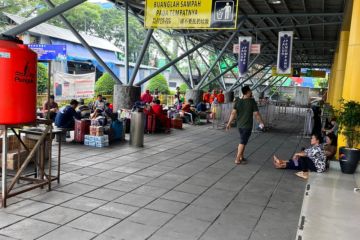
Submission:
MULTIPOLYGON (((124 5, 124 0, 112 0, 124 5)), ((144 18, 145 1, 128 0, 132 11, 144 18)), ((279 31, 294 31, 293 65, 298 67, 330 67, 343 20, 346 0, 239 0, 238 21, 246 20, 238 29, 238 35, 253 36, 261 43, 260 63, 277 55, 279 31), (274 4, 274 2, 280 2, 274 4)), ((176 30, 168 31, 172 36, 188 36, 201 42, 213 37, 212 43, 221 48, 235 30, 176 30)), ((233 44, 237 39, 233 40, 233 44)), ((228 52, 232 52, 233 45, 228 52)))

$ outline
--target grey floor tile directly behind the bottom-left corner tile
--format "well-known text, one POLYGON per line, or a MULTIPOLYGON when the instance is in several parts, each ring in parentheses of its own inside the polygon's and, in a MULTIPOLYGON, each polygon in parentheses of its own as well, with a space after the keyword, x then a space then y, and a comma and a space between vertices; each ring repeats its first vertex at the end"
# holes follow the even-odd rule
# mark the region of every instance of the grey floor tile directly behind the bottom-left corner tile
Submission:
POLYGON ((5 209, 5 212, 21 215, 24 217, 29 217, 31 215, 37 214, 41 211, 49 209, 53 205, 47 203, 36 202, 32 200, 24 200, 13 205, 10 205, 5 209))

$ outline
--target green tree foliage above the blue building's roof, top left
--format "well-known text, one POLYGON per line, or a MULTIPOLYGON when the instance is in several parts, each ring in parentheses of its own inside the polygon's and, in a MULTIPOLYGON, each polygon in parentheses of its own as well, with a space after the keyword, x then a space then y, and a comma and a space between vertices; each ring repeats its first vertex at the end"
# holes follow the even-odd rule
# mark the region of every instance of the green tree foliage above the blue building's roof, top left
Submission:
MULTIPOLYGON (((52 0, 55 6, 68 0, 52 0)), ((49 10, 43 0, 0 0, 0 13, 8 12, 23 17, 35 17, 49 10)), ((1 14, 0 14, 1 15, 1 14)), ((124 52, 125 12, 116 7, 102 8, 100 5, 85 2, 63 13, 71 25, 79 32, 107 39, 124 52)), ((4 16, 2 16, 4 19, 4 16)), ((58 17, 47 23, 67 28, 58 17)), ((0 19, 1 24, 4 22, 0 19)), ((146 32, 138 20, 129 15, 129 60, 135 62, 143 44, 146 32)), ((149 53, 145 54, 144 64, 149 64, 149 53)))

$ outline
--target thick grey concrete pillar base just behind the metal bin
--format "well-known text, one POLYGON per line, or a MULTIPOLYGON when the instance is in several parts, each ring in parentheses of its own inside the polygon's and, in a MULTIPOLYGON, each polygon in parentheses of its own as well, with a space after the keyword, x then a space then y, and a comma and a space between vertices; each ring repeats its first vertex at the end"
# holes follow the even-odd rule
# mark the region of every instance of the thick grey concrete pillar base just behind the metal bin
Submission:
POLYGON ((114 112, 120 109, 132 109, 136 101, 140 100, 141 88, 137 86, 114 86, 114 112))

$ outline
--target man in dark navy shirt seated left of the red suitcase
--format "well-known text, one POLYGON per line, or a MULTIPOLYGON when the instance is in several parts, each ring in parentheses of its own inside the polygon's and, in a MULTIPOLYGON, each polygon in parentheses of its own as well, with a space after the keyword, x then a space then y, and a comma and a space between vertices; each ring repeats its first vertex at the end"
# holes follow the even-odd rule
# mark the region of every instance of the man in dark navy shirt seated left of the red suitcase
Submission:
POLYGON ((79 119, 78 114, 75 109, 79 105, 78 101, 75 99, 70 101, 70 105, 60 109, 60 111, 56 114, 55 125, 59 128, 68 128, 74 129, 75 127, 75 119, 79 119))

